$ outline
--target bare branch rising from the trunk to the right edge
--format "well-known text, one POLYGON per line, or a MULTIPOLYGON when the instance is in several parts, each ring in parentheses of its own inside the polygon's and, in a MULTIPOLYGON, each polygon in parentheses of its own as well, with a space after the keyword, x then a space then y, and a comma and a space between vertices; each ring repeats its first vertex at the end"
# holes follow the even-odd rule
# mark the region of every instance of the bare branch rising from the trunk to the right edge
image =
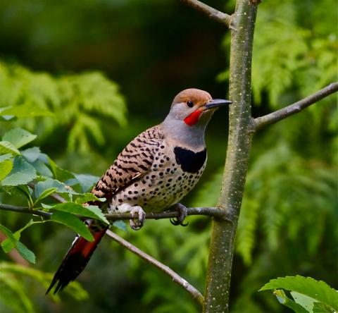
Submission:
POLYGON ((284 118, 299 113, 306 107, 311 106, 311 104, 314 104, 315 102, 318 102, 320 99, 323 99, 337 91, 338 91, 338 82, 332 82, 327 87, 323 88, 322 90, 319 90, 318 92, 315 92, 314 94, 311 94, 311 96, 301 99, 299 102, 291 104, 283 109, 267 114, 265 116, 255 118, 254 121, 256 124, 256 130, 263 128, 265 125, 277 123, 278 121, 281 121, 284 118))

